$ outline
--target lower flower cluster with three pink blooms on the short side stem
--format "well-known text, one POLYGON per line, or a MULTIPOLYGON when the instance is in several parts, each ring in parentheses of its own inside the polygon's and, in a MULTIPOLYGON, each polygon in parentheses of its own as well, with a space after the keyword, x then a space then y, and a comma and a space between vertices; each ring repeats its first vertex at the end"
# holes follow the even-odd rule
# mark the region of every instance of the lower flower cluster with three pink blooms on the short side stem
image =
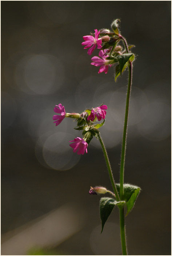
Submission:
POLYGON ((100 107, 86 109, 81 114, 79 113, 66 113, 64 106, 61 104, 56 105, 54 108, 54 112, 60 115, 54 115, 53 120, 56 120, 56 126, 63 121, 65 117, 75 118, 77 121, 77 128, 76 130, 83 130, 83 138, 76 137, 74 140, 70 140, 72 142, 70 147, 73 148, 73 152, 77 152, 78 155, 84 155, 87 153, 87 147, 90 141, 92 140, 93 136, 97 137, 99 133, 98 128, 100 128, 103 124, 94 124, 94 122, 101 121, 102 119, 105 120, 107 105, 101 105, 100 107))

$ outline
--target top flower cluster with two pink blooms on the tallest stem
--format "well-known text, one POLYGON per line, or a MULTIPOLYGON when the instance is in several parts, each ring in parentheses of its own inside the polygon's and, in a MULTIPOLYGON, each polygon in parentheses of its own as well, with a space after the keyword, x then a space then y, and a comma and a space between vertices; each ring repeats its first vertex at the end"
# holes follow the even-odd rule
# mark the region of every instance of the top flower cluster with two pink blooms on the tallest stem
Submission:
POLYGON ((98 73, 104 72, 107 74, 108 68, 119 61, 117 57, 125 54, 126 51, 129 53, 128 50, 133 47, 133 45, 130 45, 127 50, 121 47, 120 40, 123 40, 123 37, 119 33, 119 21, 119 19, 113 21, 111 24, 112 31, 109 29, 99 31, 95 29, 95 33, 92 35, 83 36, 85 41, 81 44, 85 46, 84 49, 91 47, 88 49, 89 55, 96 49, 96 45, 97 49, 100 49, 99 56, 91 58, 91 65, 100 67, 98 73))

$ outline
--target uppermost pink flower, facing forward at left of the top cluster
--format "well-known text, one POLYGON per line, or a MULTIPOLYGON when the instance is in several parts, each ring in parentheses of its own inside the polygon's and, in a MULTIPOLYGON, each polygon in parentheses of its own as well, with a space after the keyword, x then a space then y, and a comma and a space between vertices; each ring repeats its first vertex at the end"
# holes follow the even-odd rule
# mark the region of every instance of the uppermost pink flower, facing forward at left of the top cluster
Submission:
POLYGON ((96 49, 96 44, 97 44, 97 49, 101 48, 101 39, 99 39, 99 34, 100 31, 98 32, 97 29, 95 29, 95 37, 93 36, 83 36, 83 39, 85 40, 85 42, 82 43, 82 45, 86 45, 84 47, 84 49, 87 49, 89 47, 88 50, 88 54, 91 55, 92 52, 96 49))

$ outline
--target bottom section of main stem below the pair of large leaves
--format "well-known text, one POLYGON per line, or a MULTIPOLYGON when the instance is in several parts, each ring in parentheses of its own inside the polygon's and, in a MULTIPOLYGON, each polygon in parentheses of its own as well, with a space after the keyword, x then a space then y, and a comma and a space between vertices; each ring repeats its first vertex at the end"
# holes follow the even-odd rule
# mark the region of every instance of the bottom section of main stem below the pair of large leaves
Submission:
POLYGON ((125 239, 125 216, 124 207, 120 208, 120 231, 121 231, 121 247, 123 255, 127 255, 127 246, 125 239))

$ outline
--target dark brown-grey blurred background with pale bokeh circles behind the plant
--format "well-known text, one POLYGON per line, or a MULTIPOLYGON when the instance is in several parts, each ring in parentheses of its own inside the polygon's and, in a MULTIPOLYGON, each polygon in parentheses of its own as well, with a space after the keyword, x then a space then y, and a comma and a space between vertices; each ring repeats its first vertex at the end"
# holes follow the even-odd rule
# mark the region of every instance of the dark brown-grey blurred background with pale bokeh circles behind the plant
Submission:
POLYGON ((130 255, 171 255, 171 1, 1 1, 1 255, 121 255, 119 211, 100 235, 100 196, 108 189, 96 138, 81 136, 66 112, 108 105, 100 128, 116 182, 128 72, 98 74, 81 43, 121 20, 133 49, 125 183, 141 187, 126 218, 130 255))

